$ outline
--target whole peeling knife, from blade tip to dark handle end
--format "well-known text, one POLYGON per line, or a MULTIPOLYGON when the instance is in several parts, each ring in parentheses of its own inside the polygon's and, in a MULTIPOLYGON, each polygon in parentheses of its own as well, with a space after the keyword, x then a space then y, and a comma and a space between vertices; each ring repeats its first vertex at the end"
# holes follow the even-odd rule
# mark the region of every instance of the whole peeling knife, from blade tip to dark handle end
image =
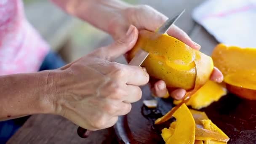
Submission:
MULTIPOLYGON (((181 11, 179 14, 176 14, 175 16, 173 16, 171 19, 167 19, 167 21, 165 21, 156 30, 156 33, 165 34, 168 31, 168 29, 171 27, 171 25, 174 24, 177 19, 179 19, 179 17, 182 15, 182 13, 184 13, 184 11, 185 11, 185 9, 183 11, 181 11)), ((134 66, 141 66, 141 64, 144 62, 144 60, 147 58, 148 55, 149 55, 148 52, 143 51, 142 49, 140 49, 128 64, 129 65, 134 65, 134 66)), ((87 138, 90 133, 91 133, 91 131, 88 131, 88 130, 82 128, 82 127, 77 128, 77 134, 81 138, 87 138)))

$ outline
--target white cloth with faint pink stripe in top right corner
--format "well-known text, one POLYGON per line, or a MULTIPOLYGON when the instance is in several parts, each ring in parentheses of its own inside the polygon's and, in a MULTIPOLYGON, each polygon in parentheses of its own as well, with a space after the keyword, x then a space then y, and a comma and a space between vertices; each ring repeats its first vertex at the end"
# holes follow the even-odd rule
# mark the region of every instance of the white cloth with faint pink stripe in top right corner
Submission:
POLYGON ((256 48, 256 0, 206 0, 192 17, 219 43, 256 48))

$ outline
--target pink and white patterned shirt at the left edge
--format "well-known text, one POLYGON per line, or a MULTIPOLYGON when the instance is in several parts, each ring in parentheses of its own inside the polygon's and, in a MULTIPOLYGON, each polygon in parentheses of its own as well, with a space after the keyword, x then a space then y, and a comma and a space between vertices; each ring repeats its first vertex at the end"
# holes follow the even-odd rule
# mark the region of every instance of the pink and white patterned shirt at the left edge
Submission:
POLYGON ((22 0, 0 0, 0 75, 36 72, 48 51, 26 20, 22 0))

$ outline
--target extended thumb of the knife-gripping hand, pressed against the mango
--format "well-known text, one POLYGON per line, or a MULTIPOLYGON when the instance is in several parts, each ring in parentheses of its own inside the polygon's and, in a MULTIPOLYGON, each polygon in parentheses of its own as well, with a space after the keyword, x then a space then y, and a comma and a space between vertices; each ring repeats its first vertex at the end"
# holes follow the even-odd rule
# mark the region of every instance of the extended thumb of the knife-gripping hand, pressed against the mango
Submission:
POLYGON ((103 56, 101 58, 107 59, 108 61, 114 61, 119 56, 130 51, 135 45, 138 39, 138 29, 131 25, 126 32, 126 35, 121 39, 115 41, 111 45, 103 47, 103 56))

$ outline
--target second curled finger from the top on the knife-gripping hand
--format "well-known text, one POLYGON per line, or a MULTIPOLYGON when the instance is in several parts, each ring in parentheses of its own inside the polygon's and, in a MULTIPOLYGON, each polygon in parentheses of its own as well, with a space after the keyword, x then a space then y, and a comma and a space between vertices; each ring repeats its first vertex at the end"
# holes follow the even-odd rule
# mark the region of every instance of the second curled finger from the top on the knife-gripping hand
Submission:
POLYGON ((141 99, 142 91, 139 86, 127 85, 125 91, 128 93, 128 96, 123 98, 123 102, 125 103, 133 103, 141 99))

